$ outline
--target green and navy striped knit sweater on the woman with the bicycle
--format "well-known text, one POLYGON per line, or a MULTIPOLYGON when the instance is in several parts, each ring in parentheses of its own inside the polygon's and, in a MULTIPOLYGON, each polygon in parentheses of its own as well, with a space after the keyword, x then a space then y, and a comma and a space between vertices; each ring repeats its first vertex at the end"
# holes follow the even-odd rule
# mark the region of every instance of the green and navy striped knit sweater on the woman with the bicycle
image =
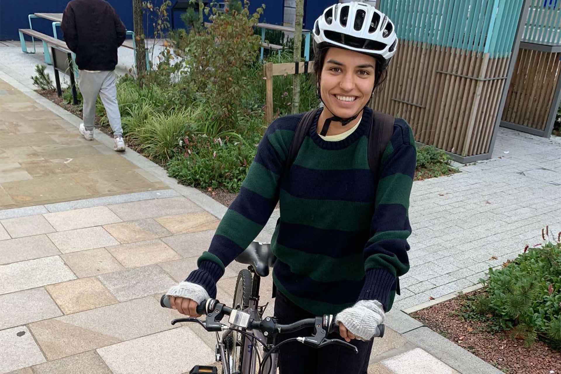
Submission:
POLYGON ((240 194, 199 257, 199 269, 186 281, 215 297, 224 267, 259 234, 280 202, 272 238, 273 281, 280 292, 315 315, 336 314, 362 299, 378 300, 389 311, 397 277, 409 269, 407 210, 416 165, 412 130, 396 119, 375 186, 367 157, 372 110, 365 109, 356 131, 336 142, 316 132, 318 113, 283 174, 302 115, 270 124, 240 194))

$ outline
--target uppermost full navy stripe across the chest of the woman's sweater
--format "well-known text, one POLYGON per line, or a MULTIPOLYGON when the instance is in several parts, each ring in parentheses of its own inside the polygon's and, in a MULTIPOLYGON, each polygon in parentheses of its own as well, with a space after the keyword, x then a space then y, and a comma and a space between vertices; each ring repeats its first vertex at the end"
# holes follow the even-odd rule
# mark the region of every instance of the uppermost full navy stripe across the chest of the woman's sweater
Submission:
POLYGON ((370 169, 318 170, 293 164, 282 186, 292 196, 314 200, 369 202, 376 196, 370 169))

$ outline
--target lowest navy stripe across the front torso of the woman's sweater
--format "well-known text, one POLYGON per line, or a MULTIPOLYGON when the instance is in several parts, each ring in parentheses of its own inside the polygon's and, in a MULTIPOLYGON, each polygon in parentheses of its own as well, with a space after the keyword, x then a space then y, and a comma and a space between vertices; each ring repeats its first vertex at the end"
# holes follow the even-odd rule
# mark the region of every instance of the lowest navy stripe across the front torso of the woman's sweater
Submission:
POLYGON ((318 282, 306 275, 294 274, 284 262, 277 260, 274 267, 275 276, 286 290, 296 297, 307 298, 331 304, 354 303, 364 285, 360 281, 318 282))

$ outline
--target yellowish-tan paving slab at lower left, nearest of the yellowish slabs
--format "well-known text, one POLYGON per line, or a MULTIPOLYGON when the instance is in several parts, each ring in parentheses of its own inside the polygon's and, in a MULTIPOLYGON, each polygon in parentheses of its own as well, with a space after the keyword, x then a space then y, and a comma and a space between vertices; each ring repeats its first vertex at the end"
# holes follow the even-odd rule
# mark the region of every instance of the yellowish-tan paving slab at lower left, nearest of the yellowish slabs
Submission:
POLYGON ((82 312, 117 303, 97 278, 70 280, 45 286, 65 314, 82 312))

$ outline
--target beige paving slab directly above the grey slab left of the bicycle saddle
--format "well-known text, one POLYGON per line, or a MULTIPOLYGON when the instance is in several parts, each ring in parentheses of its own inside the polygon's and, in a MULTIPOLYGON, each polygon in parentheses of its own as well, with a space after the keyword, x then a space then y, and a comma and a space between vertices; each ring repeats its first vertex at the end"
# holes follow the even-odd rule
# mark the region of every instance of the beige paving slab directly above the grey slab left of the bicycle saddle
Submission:
POLYGON ((106 249, 125 267, 140 267, 181 258, 180 255, 159 240, 121 244, 106 249))

